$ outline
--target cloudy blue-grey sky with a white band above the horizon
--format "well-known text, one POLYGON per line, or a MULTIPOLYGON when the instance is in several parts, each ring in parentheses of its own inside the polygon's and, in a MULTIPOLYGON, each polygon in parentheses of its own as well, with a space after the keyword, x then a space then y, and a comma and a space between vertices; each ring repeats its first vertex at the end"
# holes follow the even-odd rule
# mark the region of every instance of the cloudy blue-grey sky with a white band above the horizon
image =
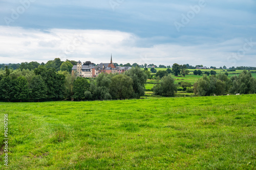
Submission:
POLYGON ((255 0, 0 0, 0 63, 256 66, 255 0))

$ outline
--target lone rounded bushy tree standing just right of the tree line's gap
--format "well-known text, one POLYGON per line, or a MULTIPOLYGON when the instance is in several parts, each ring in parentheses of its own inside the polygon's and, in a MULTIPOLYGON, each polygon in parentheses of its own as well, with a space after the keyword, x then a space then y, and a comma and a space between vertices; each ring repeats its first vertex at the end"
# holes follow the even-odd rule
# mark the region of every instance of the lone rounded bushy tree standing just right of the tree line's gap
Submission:
POLYGON ((168 75, 161 79, 159 84, 152 88, 155 95, 174 96, 177 92, 177 86, 172 76, 168 75))

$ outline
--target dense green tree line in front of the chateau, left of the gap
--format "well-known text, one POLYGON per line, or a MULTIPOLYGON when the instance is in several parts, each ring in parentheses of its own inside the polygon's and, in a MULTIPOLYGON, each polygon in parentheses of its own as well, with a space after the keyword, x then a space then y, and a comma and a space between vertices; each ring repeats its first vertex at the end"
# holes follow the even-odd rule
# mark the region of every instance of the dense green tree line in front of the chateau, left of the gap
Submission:
POLYGON ((59 100, 131 99, 144 95, 146 74, 133 67, 124 74, 100 74, 88 79, 39 65, 34 70, 8 67, 0 70, 0 101, 41 102, 59 100))

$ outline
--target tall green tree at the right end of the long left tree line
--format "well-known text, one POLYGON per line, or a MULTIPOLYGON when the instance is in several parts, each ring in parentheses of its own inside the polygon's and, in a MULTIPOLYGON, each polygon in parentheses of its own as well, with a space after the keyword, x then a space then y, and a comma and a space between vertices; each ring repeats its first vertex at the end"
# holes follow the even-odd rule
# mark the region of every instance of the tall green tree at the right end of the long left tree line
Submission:
POLYGON ((133 80, 134 98, 139 98, 145 95, 145 84, 147 81, 147 75, 138 67, 125 71, 124 74, 133 80))

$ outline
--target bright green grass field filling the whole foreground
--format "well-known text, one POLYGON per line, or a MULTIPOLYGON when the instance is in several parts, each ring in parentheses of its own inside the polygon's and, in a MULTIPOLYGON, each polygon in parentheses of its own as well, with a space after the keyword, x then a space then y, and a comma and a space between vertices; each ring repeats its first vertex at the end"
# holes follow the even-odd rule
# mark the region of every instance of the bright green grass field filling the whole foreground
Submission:
MULTIPOLYGON (((256 95, 0 103, 10 169, 255 169, 256 95)), ((3 146, 0 152, 3 165, 3 146)))

